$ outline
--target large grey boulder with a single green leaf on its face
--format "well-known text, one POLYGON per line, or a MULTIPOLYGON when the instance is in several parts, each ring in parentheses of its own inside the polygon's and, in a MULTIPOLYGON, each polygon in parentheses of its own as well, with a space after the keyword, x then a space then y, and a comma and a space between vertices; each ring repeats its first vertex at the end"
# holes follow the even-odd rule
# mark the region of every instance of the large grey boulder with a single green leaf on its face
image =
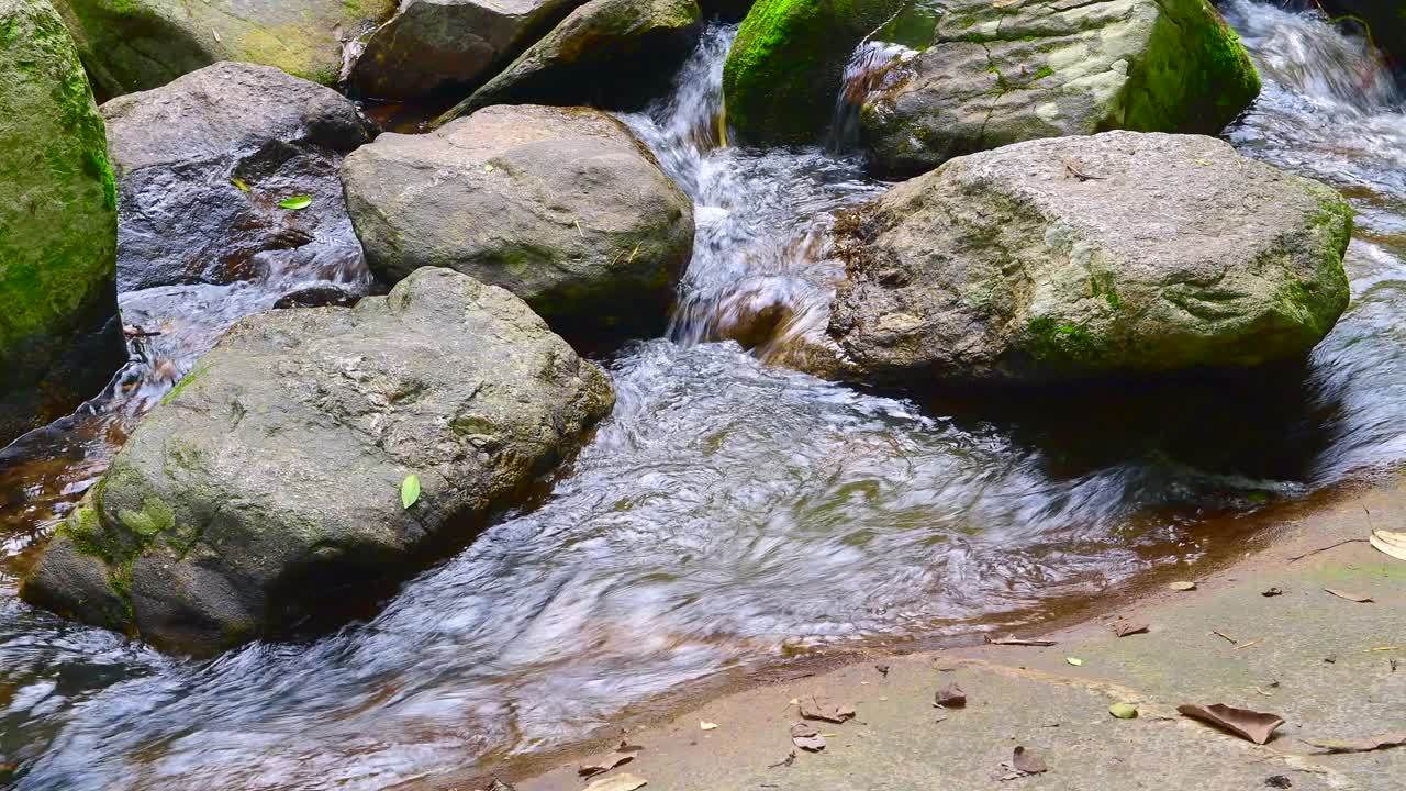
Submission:
POLYGON ((277 633, 471 538, 613 401, 522 300, 444 269, 354 308, 245 318, 132 434, 21 594, 169 650, 277 633))

